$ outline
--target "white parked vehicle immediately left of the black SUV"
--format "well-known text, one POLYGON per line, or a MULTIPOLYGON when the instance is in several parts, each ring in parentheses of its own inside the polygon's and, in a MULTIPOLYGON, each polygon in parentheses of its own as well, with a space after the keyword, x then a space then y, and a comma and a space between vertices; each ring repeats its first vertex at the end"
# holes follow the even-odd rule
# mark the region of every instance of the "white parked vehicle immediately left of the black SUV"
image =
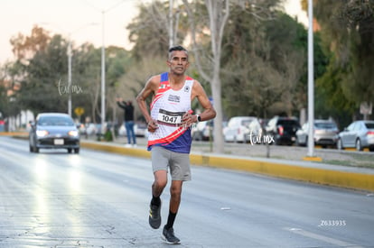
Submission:
POLYGON ((249 142, 249 135, 257 135, 261 125, 254 116, 234 116, 229 119, 223 137, 225 142, 249 142))

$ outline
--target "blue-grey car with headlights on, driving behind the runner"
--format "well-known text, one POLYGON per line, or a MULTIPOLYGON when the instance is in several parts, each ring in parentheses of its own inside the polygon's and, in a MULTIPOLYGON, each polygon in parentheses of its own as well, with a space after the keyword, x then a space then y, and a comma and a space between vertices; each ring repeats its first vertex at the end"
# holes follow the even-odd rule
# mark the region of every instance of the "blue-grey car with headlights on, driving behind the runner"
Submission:
POLYGON ((79 153, 79 129, 70 115, 42 113, 31 122, 29 132, 30 152, 40 149, 67 149, 79 153))

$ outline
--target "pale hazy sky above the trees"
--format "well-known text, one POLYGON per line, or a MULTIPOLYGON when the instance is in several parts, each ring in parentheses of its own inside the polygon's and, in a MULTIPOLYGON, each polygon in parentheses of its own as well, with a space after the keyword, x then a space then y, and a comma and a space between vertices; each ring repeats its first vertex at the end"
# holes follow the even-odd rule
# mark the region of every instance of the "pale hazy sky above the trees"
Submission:
MULTIPOLYGON (((137 14, 136 6, 151 0, 0 0, 0 65, 14 60, 10 39, 18 33, 30 35, 34 25, 60 33, 76 45, 91 42, 96 47, 115 45, 131 49, 126 25, 137 14), (104 13, 104 14, 103 14, 104 13), (104 18, 103 18, 104 17, 104 18), (103 25, 104 19, 104 36, 103 25)), ((301 13, 300 0, 285 0, 285 10, 301 13)))

